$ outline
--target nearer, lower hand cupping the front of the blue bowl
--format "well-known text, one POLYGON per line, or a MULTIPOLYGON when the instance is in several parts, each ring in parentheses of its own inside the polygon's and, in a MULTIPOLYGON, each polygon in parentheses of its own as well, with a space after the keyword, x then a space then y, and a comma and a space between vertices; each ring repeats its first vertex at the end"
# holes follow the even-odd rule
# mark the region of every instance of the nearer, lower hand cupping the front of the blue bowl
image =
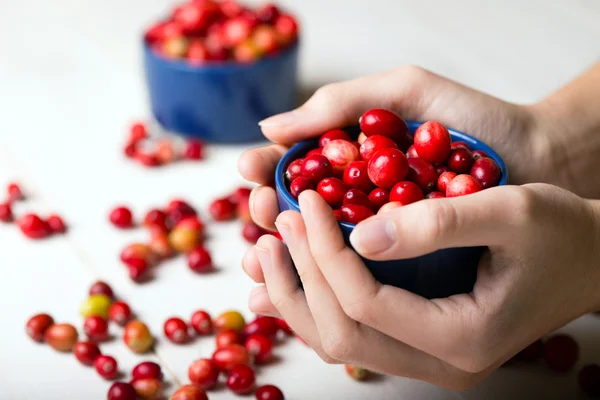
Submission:
POLYGON ((489 246, 472 293, 434 300, 375 281, 321 197, 305 191, 299 201, 302 214, 276 221, 289 253, 266 235, 244 258, 265 283, 250 308, 284 318, 327 362, 462 390, 600 306, 600 206, 557 187, 425 200, 356 226, 352 245, 375 260, 489 246))

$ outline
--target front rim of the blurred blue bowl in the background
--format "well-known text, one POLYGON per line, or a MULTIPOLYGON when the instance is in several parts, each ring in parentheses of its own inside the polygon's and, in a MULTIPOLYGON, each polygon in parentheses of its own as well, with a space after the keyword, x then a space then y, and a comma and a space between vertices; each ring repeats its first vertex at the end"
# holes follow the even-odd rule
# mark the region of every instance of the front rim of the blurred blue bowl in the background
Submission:
POLYGON ((225 72, 225 73, 234 73, 234 72, 244 72, 254 68, 265 67, 270 64, 274 64, 280 61, 283 58, 287 58, 290 54, 296 53, 298 48, 300 47, 300 39, 297 38, 294 44, 282 52, 277 53, 275 56, 267 56, 259 59, 256 62, 250 64, 239 64, 232 62, 212 62, 204 65, 191 65, 185 61, 181 60, 170 60, 168 58, 164 58, 156 54, 152 51, 152 47, 148 43, 145 38, 142 38, 142 47, 144 50, 144 55, 146 59, 151 59, 153 62, 162 64, 165 68, 171 68, 174 70, 178 70, 181 72, 193 72, 193 73, 202 73, 202 72, 225 72))

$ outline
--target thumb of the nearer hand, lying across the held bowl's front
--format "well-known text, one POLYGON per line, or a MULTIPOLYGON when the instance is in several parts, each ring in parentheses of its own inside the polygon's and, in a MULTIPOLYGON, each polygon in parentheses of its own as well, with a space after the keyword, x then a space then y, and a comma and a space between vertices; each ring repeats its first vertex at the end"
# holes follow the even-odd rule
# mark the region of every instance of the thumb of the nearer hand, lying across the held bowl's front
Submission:
POLYGON ((423 200, 359 223, 350 243, 363 257, 392 260, 439 249, 502 246, 518 240, 525 189, 502 186, 462 197, 423 200))

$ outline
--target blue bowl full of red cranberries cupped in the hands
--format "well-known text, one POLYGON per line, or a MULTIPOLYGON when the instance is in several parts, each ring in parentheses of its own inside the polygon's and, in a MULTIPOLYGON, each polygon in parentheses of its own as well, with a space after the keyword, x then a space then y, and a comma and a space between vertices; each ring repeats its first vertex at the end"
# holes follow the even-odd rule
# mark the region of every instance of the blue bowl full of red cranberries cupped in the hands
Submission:
MULTIPOLYGON (((404 122, 386 113, 390 112, 367 111, 360 127, 343 130, 345 137, 338 129, 293 146, 276 170, 280 211, 299 211, 299 193, 316 190, 332 206, 351 247, 349 237, 356 223, 380 210, 508 184, 506 165, 485 143, 435 121, 404 122), (385 118, 369 119, 369 113, 379 117, 378 112, 385 118), (375 129, 369 126, 371 120, 375 129)), ((484 250, 450 248, 412 259, 363 261, 383 284, 441 298, 473 289, 484 250)))

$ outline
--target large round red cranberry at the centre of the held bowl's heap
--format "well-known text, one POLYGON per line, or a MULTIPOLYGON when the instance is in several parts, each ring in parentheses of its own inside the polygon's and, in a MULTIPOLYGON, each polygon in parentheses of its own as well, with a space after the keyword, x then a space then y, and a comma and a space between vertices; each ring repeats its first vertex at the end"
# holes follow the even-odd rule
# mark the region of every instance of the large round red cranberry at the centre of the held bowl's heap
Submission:
POLYGON ((379 150, 369 161, 369 178, 384 189, 389 189, 406 177, 408 161, 398 149, 379 150))

